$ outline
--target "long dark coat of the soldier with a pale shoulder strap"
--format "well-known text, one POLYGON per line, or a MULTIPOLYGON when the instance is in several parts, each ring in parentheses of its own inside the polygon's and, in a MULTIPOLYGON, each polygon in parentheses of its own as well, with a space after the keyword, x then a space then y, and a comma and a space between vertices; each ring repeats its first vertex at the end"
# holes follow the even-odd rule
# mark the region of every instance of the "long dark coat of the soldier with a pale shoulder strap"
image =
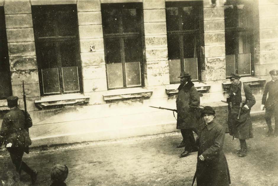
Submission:
POLYGON ((249 110, 242 108, 240 112, 240 118, 237 119, 240 103, 241 103, 241 82, 236 86, 230 87, 230 98, 229 102, 232 102, 232 108, 229 109, 229 133, 235 138, 245 140, 253 138, 253 128, 250 118, 251 107, 256 103, 256 99, 252 94, 252 91, 248 85, 243 83, 243 88, 245 91, 246 101, 243 106, 246 104, 249 107, 249 110))

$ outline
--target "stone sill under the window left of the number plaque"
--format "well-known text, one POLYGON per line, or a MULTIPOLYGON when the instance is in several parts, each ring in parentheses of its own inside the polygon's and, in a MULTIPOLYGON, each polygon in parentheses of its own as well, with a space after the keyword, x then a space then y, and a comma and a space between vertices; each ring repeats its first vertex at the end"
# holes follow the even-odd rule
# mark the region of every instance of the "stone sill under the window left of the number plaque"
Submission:
POLYGON ((54 107, 67 107, 79 106, 89 103, 90 96, 83 94, 63 94, 54 96, 42 96, 40 100, 35 100, 35 105, 38 108, 54 108, 54 107))

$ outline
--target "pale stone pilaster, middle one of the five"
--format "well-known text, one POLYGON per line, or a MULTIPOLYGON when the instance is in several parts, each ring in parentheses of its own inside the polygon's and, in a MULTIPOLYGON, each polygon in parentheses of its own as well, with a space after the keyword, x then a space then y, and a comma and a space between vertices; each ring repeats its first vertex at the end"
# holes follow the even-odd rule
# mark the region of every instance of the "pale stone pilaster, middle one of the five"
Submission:
POLYGON ((166 13, 164 0, 143 0, 146 88, 169 84, 166 13))

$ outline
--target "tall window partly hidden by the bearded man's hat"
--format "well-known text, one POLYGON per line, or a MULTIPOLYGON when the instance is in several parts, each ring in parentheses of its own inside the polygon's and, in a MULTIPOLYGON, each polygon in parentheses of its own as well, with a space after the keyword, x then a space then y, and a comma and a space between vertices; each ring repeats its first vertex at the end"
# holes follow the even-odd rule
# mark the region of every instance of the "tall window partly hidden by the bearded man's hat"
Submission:
POLYGON ((199 79, 201 7, 202 1, 166 2, 170 83, 180 82, 181 71, 199 79))

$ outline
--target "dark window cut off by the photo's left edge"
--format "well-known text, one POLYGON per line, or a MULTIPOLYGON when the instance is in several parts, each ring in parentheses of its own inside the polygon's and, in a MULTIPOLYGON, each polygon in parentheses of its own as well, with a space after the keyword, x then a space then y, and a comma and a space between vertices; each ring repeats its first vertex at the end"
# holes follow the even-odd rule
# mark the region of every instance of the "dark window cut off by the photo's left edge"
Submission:
POLYGON ((0 7, 0 99, 12 95, 4 7, 0 7))

